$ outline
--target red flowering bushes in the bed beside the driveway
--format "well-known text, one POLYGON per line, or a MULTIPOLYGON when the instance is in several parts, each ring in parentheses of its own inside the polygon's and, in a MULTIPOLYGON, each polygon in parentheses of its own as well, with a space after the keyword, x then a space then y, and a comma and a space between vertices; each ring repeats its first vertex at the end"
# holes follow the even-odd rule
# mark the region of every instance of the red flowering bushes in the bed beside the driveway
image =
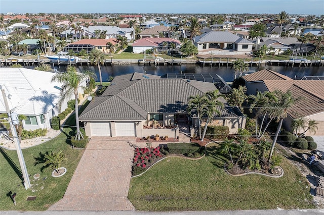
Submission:
POLYGON ((133 159, 133 175, 138 175, 145 169, 152 166, 164 155, 160 152, 160 147, 156 148, 135 148, 133 159))

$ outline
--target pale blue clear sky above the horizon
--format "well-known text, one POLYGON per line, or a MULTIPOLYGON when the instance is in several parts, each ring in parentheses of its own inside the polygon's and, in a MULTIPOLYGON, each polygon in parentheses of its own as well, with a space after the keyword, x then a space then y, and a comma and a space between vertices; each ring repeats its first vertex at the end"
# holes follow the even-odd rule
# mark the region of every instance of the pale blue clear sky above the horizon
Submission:
POLYGON ((0 0, 0 13, 323 15, 323 0, 0 0))

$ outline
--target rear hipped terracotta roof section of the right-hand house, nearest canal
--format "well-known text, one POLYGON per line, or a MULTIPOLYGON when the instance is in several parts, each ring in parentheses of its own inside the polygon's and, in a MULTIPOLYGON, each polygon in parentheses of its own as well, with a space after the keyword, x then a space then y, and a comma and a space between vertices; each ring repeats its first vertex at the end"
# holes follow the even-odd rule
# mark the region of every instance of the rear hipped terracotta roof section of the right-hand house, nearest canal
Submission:
POLYGON ((248 82, 263 81, 263 80, 293 80, 285 75, 281 75, 277 72, 268 69, 260 70, 255 73, 245 75, 242 78, 248 82))

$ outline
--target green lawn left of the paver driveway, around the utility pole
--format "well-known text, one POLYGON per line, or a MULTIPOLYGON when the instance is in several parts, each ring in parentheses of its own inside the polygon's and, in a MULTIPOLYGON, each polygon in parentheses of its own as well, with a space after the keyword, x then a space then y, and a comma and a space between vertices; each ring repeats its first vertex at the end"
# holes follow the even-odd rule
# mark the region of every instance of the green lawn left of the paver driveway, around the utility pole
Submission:
MULTIPOLYGON (((88 103, 81 107, 81 112, 88 103)), ((74 114, 67 120, 66 125, 75 126, 74 114)), ((65 127, 63 133, 58 137, 41 145, 22 150, 28 174, 31 175, 29 179, 32 186, 28 190, 25 190, 19 177, 21 173, 19 173, 20 165, 16 150, 0 148, 0 210, 46 210, 63 197, 84 152, 84 150, 71 148, 68 141, 71 138, 70 131, 72 131, 70 127, 65 127), (67 169, 67 173, 62 177, 53 178, 51 176, 52 170, 45 169, 42 171, 43 164, 34 165, 34 157, 39 157, 39 153, 44 154, 47 151, 58 150, 63 150, 66 155, 67 161, 62 162, 61 166, 67 169), (34 181, 32 176, 36 173, 41 174, 41 177, 34 181), (7 196, 10 191, 17 193, 17 205, 14 205, 11 198, 7 196), (26 201, 28 196, 36 196, 36 199, 26 201)))

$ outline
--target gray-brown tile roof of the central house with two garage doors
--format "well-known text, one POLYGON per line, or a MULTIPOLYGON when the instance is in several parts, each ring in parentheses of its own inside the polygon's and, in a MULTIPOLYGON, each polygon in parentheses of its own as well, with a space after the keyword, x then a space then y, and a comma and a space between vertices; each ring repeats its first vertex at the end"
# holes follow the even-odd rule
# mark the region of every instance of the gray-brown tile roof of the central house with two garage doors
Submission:
POLYGON ((96 96, 80 121, 145 120, 147 113, 186 112, 190 95, 215 90, 213 83, 185 79, 159 79, 135 73, 116 76, 102 96, 96 96))

